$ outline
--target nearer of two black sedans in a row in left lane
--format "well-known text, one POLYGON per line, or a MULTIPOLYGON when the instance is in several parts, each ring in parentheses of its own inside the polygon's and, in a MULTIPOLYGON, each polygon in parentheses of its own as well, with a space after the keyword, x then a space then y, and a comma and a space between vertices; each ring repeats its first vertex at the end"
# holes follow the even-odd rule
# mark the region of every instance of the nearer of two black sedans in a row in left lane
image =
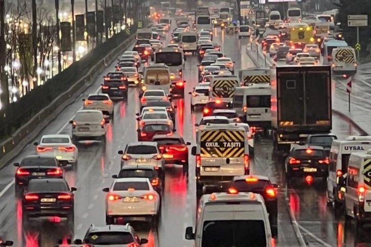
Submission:
POLYGON ((32 179, 22 196, 22 223, 27 225, 31 217, 66 217, 73 226, 74 191, 62 178, 32 179))

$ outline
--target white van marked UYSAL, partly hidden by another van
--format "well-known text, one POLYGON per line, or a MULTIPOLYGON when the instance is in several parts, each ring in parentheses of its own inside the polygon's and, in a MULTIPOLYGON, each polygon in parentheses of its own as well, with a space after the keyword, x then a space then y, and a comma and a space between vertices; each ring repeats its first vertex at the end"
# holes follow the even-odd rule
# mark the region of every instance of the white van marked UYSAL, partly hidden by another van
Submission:
POLYGON ((333 140, 330 150, 327 202, 339 208, 343 202, 339 178, 346 175, 349 157, 356 152, 371 149, 371 136, 349 136, 345 140, 333 140))

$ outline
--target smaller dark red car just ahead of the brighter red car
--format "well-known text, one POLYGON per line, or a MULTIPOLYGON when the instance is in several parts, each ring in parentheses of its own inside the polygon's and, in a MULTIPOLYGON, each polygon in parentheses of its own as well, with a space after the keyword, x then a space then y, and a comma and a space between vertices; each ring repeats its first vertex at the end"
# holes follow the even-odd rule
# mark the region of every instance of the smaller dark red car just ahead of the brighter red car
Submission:
POLYGON ((173 133, 172 123, 167 120, 141 120, 138 132, 138 141, 152 141, 154 135, 173 133))

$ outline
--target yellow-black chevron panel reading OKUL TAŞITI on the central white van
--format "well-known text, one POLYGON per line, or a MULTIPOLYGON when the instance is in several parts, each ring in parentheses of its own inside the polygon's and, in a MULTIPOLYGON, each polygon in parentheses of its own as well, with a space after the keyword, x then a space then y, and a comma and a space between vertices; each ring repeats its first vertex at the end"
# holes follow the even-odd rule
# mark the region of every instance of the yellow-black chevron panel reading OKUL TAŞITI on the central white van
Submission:
POLYGON ((237 158, 245 154, 244 131, 201 131, 201 157, 237 158))

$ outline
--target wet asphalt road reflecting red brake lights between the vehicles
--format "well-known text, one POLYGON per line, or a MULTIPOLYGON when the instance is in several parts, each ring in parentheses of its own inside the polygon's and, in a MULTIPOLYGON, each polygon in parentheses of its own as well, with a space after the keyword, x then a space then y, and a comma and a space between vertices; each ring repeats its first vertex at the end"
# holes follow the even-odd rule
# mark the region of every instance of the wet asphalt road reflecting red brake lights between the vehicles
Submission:
MULTIPOLYGON (((170 40, 168 35, 167 41, 170 40)), ((216 30, 214 42, 222 45, 222 52, 236 61, 237 68, 253 67, 254 64, 245 54, 247 40, 239 40, 236 35, 227 36, 216 30), (243 52, 242 52, 243 51, 243 52)), ((190 96, 188 92, 197 84, 197 59, 187 56, 185 62, 185 100, 174 101, 178 106, 176 129, 183 135, 185 141, 195 143, 194 124, 199 122, 201 113, 191 114, 190 96)), ((99 76, 94 85, 86 90, 84 95, 98 90, 102 76, 114 68, 114 64, 99 76)), ((71 127, 66 125, 74 113, 82 107, 81 95, 74 104, 67 107, 51 124, 43 130, 35 141, 43 134, 71 133, 71 127)), ((90 143, 79 147, 79 164, 75 170, 66 171, 66 181, 69 186, 78 188, 75 196, 75 229, 68 229, 64 221, 55 218, 35 220, 29 226, 22 227, 21 203, 14 196, 15 167, 8 165, 0 171, 0 234, 15 242, 14 246, 53 246, 62 238, 82 238, 90 224, 105 224, 105 193, 102 188, 109 187, 120 168, 118 150, 126 143, 136 140, 135 113, 138 112, 138 93, 131 88, 127 102, 116 102, 114 120, 108 125, 107 143, 90 143)), ((337 116, 333 117, 333 133, 339 138, 349 134, 358 134, 352 126, 337 116)), ((326 191, 323 184, 315 181, 314 185, 306 186, 298 183, 295 188, 285 188, 283 158, 273 157, 270 140, 256 141, 256 157, 251 162, 251 173, 267 175, 272 182, 279 183, 279 237, 277 246, 299 246, 290 224, 290 217, 285 202, 287 196, 291 208, 300 226, 323 239, 331 246, 346 241, 346 246, 353 246, 355 237, 352 230, 345 231, 343 221, 338 223, 334 213, 326 206, 326 191), (345 233, 345 234, 344 234, 345 233), (346 237, 345 237, 346 236, 346 237), (348 244, 349 243, 349 244, 348 244)), ((35 147, 28 145, 12 162, 19 162, 27 155, 35 153, 35 147)), ((189 183, 182 176, 180 166, 168 166, 166 172, 166 189, 163 202, 161 221, 157 230, 145 231, 140 226, 134 226, 140 237, 149 239, 146 246, 193 246, 192 241, 184 239, 185 227, 194 226, 196 209, 195 161, 190 156, 189 183)), ((305 235, 310 244, 316 244, 315 239, 305 235)))

